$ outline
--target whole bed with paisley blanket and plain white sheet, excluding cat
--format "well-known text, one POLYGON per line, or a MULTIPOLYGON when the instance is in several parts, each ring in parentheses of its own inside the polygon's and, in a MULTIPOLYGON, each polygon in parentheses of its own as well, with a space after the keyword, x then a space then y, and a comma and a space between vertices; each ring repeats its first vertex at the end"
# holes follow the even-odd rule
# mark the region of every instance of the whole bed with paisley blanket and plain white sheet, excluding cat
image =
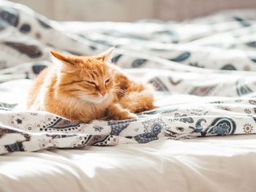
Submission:
POLYGON ((0 1, 0 191, 255 191, 256 10, 182 23, 56 22, 0 1), (26 110, 49 50, 157 88, 135 120, 26 110))

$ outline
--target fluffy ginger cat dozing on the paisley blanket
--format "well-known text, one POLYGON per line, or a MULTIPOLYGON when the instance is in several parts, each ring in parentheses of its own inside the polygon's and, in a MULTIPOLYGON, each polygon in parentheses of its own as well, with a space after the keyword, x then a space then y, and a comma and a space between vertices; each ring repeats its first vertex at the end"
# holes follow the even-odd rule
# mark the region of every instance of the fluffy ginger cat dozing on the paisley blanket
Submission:
POLYGON ((42 70, 31 88, 29 110, 64 118, 91 120, 136 118, 154 109, 154 88, 128 77, 109 61, 113 48, 96 56, 61 55, 50 51, 53 65, 42 70))

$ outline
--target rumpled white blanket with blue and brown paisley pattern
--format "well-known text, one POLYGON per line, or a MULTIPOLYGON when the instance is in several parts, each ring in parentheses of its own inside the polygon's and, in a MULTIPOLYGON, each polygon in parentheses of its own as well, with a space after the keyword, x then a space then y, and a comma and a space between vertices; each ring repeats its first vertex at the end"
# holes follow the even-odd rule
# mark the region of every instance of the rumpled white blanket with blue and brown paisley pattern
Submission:
POLYGON ((256 10, 183 23, 56 22, 0 1, 0 153, 256 133, 256 10), (26 111, 48 50, 93 55, 154 83, 156 110, 136 120, 77 123, 26 111))

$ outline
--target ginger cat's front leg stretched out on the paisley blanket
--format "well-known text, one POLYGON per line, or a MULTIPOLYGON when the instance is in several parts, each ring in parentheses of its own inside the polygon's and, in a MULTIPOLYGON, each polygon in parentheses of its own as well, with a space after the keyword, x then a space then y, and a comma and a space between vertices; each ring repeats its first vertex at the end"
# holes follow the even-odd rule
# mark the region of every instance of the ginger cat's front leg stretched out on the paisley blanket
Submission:
POLYGON ((113 120, 135 119, 137 116, 129 110, 121 107, 120 104, 113 104, 108 107, 108 117, 113 120))

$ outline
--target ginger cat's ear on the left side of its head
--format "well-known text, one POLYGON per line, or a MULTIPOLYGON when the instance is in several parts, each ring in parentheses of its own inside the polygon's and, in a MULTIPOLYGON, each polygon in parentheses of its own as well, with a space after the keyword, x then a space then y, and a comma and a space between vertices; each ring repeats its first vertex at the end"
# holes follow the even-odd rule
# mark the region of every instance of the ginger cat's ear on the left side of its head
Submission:
POLYGON ((74 69, 74 62, 72 58, 66 55, 61 55, 61 53, 57 53, 53 50, 50 50, 51 53, 51 60, 54 64, 59 64, 61 70, 63 71, 70 71, 74 69))

